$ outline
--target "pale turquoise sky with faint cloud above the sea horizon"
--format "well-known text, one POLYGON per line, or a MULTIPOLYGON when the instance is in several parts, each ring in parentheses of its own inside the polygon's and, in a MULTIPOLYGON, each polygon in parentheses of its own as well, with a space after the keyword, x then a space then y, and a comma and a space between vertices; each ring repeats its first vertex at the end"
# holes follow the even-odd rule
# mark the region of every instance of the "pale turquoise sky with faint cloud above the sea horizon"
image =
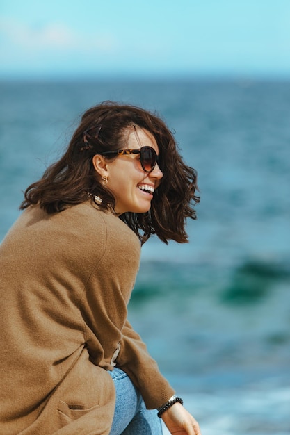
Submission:
POLYGON ((0 79, 290 78, 290 0, 0 0, 0 79))

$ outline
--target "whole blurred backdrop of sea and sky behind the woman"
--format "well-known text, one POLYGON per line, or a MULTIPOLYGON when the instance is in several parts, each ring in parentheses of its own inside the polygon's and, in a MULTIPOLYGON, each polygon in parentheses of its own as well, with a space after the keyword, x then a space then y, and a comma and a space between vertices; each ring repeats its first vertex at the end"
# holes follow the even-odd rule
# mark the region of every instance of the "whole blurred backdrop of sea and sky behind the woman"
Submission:
POLYGON ((100 101, 198 171, 189 243, 143 247, 129 318, 203 435, 289 434, 290 2, 2 0, 0 240, 100 101))

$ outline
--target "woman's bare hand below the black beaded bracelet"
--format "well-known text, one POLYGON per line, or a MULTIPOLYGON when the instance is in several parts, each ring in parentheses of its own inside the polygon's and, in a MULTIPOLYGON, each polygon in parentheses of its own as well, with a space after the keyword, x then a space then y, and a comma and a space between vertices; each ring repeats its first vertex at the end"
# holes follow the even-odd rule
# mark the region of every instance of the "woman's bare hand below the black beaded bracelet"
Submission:
POLYGON ((168 427, 170 434, 202 435, 198 422, 178 402, 165 411, 161 418, 168 427))

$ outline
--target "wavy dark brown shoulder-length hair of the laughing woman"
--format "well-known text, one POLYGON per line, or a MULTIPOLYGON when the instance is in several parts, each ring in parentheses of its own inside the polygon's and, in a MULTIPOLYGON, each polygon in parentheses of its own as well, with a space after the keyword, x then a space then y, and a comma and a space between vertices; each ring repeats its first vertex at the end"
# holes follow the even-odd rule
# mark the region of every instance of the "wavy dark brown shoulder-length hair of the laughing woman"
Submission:
POLYGON ((47 213, 61 212, 85 202, 88 195, 92 201, 95 195, 102 197, 100 208, 114 208, 115 199, 98 181, 92 157, 124 147, 125 133, 131 126, 146 129, 154 136, 163 179, 154 192, 149 212, 127 212, 120 219, 138 235, 141 243, 152 234, 164 243, 168 240, 186 243, 186 218, 196 219, 193 205, 200 201, 195 195, 196 171, 182 161, 172 133, 159 116, 112 101, 104 101, 83 113, 65 154, 26 189, 20 209, 39 204, 47 213), (88 130, 90 135, 85 133, 88 130))

